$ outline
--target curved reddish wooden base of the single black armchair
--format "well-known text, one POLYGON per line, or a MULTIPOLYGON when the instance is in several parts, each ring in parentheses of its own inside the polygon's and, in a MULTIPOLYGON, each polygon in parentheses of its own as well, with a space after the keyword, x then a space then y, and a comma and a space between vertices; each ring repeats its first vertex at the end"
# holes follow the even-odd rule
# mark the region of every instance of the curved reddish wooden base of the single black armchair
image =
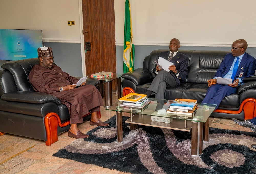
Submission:
MULTIPOLYGON (((88 113, 83 117, 89 115, 88 113)), ((98 118, 101 118, 100 111, 97 112, 98 118)), ((50 112, 45 116, 45 129, 46 129, 46 136, 47 141, 45 141, 45 145, 50 146, 51 144, 58 141, 58 126, 65 127, 70 124, 70 121, 65 123, 61 123, 60 117, 58 114, 54 112, 50 112)))

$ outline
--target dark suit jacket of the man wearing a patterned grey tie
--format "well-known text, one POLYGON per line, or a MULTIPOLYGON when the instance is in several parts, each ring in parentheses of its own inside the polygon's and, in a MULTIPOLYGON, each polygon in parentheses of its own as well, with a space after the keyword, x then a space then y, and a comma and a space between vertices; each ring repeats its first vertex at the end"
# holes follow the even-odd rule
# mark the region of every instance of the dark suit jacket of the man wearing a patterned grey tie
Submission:
MULTIPOLYGON (((160 53, 159 57, 162 57, 162 58, 168 60, 169 54, 170 54, 170 51, 164 51, 164 52, 160 53)), ((175 81, 178 84, 180 84, 179 80, 186 80, 187 79, 187 75, 188 75, 188 57, 186 55, 180 53, 180 52, 177 52, 177 54, 172 58, 172 60, 170 60, 170 62, 172 62, 173 65, 175 65, 176 70, 179 71, 179 76, 177 78, 177 76, 174 74, 173 71, 169 71, 169 73, 171 73, 174 76, 175 81)), ((157 66, 157 64, 155 65, 155 68, 153 69, 154 74, 156 74, 156 66, 157 66)))

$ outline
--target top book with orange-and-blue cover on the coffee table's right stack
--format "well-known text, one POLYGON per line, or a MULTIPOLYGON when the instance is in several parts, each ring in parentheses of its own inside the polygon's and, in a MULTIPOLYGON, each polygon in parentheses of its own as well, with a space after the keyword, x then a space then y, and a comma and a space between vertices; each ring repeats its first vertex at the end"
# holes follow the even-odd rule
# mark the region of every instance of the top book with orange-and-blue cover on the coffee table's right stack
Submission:
POLYGON ((171 104, 170 108, 179 108, 179 109, 190 109, 192 110, 197 103, 197 100, 192 99, 175 99, 171 104))

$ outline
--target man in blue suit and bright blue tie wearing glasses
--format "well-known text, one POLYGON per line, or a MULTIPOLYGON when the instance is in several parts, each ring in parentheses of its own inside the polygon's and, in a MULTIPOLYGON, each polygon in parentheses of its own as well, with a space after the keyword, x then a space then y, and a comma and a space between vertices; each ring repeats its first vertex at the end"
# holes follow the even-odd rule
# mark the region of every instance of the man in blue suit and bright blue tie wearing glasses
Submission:
POLYGON ((208 90, 202 103, 217 104, 218 108, 222 99, 232 93, 236 93, 237 86, 243 82, 243 78, 254 75, 256 59, 245 51, 247 42, 239 39, 232 44, 232 53, 228 53, 213 79, 208 80, 208 90), (233 83, 222 85, 217 83, 217 77, 232 78, 233 83))

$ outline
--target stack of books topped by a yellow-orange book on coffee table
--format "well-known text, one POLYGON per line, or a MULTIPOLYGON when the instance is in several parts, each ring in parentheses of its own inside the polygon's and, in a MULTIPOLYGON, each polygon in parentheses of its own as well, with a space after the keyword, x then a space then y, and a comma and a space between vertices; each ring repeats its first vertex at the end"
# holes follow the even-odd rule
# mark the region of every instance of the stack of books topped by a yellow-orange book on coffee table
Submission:
POLYGON ((147 108, 151 101, 148 99, 147 95, 136 93, 129 93, 118 100, 123 101, 119 104, 119 106, 122 106, 124 110, 132 109, 137 112, 142 112, 145 108, 147 108))

